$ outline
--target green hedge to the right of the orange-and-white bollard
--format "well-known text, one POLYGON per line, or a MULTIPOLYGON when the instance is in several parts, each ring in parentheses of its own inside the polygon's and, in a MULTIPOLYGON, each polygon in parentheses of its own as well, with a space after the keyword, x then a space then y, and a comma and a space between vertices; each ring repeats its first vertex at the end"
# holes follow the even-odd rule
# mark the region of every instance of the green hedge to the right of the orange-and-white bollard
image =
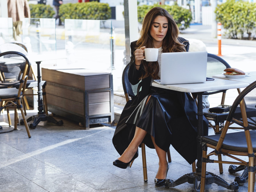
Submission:
POLYGON ((242 39, 243 34, 251 38, 256 31, 256 3, 228 0, 216 7, 216 20, 221 22, 229 38, 242 39))

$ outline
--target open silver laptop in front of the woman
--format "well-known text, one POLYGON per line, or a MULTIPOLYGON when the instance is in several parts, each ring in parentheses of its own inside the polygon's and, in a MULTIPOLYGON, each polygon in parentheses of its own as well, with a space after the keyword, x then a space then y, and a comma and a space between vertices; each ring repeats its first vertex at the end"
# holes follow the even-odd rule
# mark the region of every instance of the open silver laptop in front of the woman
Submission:
POLYGON ((162 53, 159 84, 204 83, 207 52, 162 53))

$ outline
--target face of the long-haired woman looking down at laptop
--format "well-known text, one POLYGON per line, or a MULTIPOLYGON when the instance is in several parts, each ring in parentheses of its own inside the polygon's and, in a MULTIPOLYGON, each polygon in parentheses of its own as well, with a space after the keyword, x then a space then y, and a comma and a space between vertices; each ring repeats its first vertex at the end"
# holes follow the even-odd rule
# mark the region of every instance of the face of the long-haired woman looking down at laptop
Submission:
POLYGON ((166 36, 168 30, 168 20, 164 16, 157 16, 156 19, 153 21, 150 27, 150 35, 153 37, 153 43, 161 44, 163 43, 163 39, 166 36))

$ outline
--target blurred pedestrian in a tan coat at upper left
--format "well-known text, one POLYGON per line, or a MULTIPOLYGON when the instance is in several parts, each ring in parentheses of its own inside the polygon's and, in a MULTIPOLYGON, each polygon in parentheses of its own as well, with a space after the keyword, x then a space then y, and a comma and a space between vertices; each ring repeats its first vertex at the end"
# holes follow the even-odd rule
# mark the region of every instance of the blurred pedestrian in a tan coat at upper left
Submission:
POLYGON ((30 18, 30 8, 28 0, 7 0, 8 17, 12 17, 13 38, 19 41, 22 34, 22 20, 30 18), (18 38, 18 39, 17 39, 18 38))

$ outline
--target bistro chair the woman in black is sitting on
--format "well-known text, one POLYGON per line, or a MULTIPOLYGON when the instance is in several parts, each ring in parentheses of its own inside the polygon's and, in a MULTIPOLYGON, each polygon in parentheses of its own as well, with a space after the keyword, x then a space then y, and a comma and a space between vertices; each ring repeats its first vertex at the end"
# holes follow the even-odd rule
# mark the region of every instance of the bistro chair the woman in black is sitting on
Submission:
MULTIPOLYGON (((138 83, 136 85, 132 85, 129 82, 128 70, 129 70, 129 64, 126 65, 126 67, 124 68, 123 75, 122 75, 122 84, 123 84, 123 89, 124 89, 124 95, 125 95, 126 102, 128 102, 130 100, 130 97, 132 99, 135 98, 136 95, 137 95, 137 92, 140 91, 140 87, 141 87, 140 83, 138 83)), ((147 182, 148 181, 148 173, 147 173, 146 150, 145 150, 145 144, 144 143, 141 143, 141 153, 142 153, 144 181, 147 182)), ((168 157, 168 162, 169 163, 172 162, 170 149, 167 152, 167 157, 168 157)), ((130 167, 132 166, 132 163, 133 163, 133 161, 131 162, 130 167)))

